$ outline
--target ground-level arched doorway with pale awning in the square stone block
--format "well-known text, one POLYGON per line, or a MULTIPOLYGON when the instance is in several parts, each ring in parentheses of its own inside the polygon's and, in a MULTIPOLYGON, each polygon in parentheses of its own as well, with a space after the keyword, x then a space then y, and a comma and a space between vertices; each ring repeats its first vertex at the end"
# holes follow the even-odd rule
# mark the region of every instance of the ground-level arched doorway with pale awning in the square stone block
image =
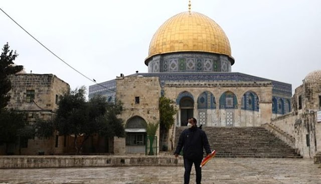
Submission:
POLYGON ((134 116, 128 120, 125 127, 126 153, 144 153, 146 145, 145 120, 134 116))

